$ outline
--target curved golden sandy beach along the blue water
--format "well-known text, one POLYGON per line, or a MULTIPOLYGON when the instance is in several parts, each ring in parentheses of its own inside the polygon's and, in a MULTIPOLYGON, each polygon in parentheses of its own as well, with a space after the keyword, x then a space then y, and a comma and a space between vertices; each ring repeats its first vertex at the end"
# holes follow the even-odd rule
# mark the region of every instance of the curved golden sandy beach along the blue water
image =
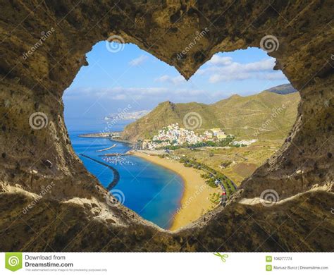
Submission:
POLYGON ((197 169, 185 167, 176 160, 161 158, 143 152, 134 152, 133 155, 170 169, 183 178, 185 186, 183 197, 181 198, 181 206, 174 216, 173 224, 170 228, 171 231, 198 219, 214 205, 210 201, 209 195, 218 193, 219 190, 206 185, 204 178, 201 177, 201 172, 197 169))

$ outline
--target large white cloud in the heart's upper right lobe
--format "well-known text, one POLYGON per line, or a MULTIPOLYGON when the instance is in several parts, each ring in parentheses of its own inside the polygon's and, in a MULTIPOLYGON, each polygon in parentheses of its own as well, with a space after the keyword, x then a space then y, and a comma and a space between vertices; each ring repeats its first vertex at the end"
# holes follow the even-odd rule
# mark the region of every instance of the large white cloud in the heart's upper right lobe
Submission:
POLYGON ((201 75, 209 75, 209 82, 216 83, 232 80, 280 80, 285 79, 281 71, 273 71, 275 59, 264 59, 252 63, 233 62, 228 56, 214 55, 209 66, 199 70, 201 75))

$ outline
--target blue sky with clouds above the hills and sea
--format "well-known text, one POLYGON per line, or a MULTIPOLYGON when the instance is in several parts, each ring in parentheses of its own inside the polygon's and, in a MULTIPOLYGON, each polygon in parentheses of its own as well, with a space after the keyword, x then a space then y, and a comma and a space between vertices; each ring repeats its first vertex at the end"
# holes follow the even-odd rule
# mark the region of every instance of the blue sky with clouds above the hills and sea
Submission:
POLYGON ((160 102, 214 103, 232 94, 246 96, 287 83, 275 60, 256 48, 219 53, 185 81, 176 69, 135 44, 109 51, 99 42, 64 92, 68 118, 99 118, 126 106, 132 111, 153 109, 160 102))

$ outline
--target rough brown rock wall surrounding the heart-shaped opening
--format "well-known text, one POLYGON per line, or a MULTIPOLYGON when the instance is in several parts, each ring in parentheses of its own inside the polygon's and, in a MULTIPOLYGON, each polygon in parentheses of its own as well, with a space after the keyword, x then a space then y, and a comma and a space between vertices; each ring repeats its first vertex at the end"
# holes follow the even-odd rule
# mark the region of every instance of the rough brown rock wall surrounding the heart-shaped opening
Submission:
POLYGON ((0 1, 0 250, 333 250, 333 3, 157 2, 0 1), (218 51, 259 47, 262 37, 275 35, 279 48, 269 55, 301 94, 280 151, 227 207, 175 233, 107 204, 106 190, 70 145, 61 96, 87 51, 111 35, 185 78, 218 51), (29 118, 38 111, 48 123, 34 130, 29 118), (266 189, 282 201, 264 207, 252 200, 266 189))

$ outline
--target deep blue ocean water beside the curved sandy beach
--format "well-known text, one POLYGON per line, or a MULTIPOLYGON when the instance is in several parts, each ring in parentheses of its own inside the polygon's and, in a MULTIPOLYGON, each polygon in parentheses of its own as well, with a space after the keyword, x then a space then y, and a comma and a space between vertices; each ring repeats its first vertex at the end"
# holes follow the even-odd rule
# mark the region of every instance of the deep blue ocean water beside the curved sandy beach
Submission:
POLYGON ((96 176, 104 186, 107 186, 113 180, 111 169, 82 157, 80 154, 86 154, 116 168, 120 173, 120 181, 111 192, 119 194, 118 190, 120 190, 124 194, 122 200, 126 207, 161 228, 169 228, 173 222, 175 212, 180 207, 183 179, 173 171, 139 157, 109 157, 108 159, 99 157, 99 155, 106 153, 127 152, 130 147, 124 143, 113 142, 105 138, 78 137, 83 133, 123 130, 129 122, 120 121, 120 123, 109 127, 106 121, 99 118, 66 118, 66 126, 73 149, 85 164, 87 170, 96 176), (111 147, 113 144, 116 144, 116 147, 104 152, 96 152, 99 149, 111 147))

